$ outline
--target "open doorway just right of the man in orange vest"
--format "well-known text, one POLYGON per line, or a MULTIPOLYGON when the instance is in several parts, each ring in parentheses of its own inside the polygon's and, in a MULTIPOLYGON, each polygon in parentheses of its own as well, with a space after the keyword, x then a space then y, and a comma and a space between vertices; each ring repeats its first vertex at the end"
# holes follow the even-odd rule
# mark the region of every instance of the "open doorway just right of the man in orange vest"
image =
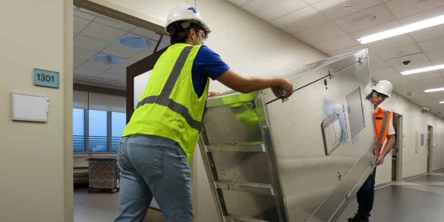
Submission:
POLYGON ((392 118, 395 128, 395 145, 392 148, 392 181, 402 181, 403 116, 393 112, 392 118))

